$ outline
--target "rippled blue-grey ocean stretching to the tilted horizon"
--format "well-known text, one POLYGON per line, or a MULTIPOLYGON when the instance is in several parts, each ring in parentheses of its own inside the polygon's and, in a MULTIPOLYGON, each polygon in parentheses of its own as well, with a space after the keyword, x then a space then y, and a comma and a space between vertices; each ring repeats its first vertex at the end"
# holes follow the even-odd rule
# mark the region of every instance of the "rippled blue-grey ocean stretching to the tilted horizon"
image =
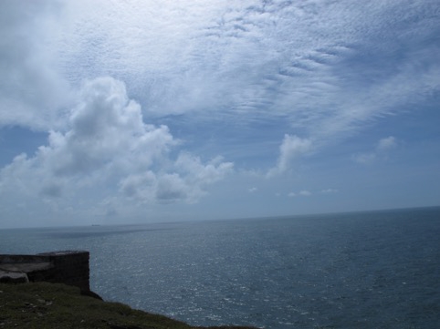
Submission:
POLYGON ((0 230, 0 253, 90 252, 90 287, 194 325, 439 328, 440 207, 0 230))

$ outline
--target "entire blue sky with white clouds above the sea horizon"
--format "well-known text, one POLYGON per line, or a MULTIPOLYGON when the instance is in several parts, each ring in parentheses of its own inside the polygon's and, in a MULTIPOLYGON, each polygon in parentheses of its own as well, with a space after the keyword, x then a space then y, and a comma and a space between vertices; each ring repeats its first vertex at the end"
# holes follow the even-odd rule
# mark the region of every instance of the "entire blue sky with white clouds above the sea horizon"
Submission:
POLYGON ((0 228, 440 205, 438 0, 0 1, 0 228))

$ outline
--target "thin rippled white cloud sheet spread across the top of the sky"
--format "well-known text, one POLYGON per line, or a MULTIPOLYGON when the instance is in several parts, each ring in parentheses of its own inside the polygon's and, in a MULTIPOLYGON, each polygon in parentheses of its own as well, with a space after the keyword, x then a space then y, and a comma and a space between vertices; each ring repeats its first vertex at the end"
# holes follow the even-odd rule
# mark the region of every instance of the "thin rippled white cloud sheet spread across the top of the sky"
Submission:
POLYGON ((435 0, 147 4, 2 2, 0 125, 58 129, 71 86, 108 75, 149 117, 279 120, 326 143, 440 87, 435 0))

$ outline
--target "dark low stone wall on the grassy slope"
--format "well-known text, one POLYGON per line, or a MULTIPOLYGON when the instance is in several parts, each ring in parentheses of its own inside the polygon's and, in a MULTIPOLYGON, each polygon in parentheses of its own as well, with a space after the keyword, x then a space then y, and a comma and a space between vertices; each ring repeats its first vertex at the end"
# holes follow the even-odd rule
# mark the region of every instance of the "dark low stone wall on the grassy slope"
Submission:
POLYGON ((65 283, 89 292, 89 252, 0 255, 0 271, 26 273, 30 282, 65 283))

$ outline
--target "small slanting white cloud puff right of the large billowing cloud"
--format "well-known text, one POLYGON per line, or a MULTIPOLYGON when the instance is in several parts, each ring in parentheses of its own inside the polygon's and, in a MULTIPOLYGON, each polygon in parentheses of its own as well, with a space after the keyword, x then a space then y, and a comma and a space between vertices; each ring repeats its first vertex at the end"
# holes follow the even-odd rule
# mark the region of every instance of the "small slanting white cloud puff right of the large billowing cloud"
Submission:
POLYGON ((279 146, 277 166, 267 172, 267 177, 273 177, 285 173, 289 170, 294 159, 309 153, 311 149, 312 142, 310 139, 301 139, 296 135, 284 135, 284 139, 279 146))

